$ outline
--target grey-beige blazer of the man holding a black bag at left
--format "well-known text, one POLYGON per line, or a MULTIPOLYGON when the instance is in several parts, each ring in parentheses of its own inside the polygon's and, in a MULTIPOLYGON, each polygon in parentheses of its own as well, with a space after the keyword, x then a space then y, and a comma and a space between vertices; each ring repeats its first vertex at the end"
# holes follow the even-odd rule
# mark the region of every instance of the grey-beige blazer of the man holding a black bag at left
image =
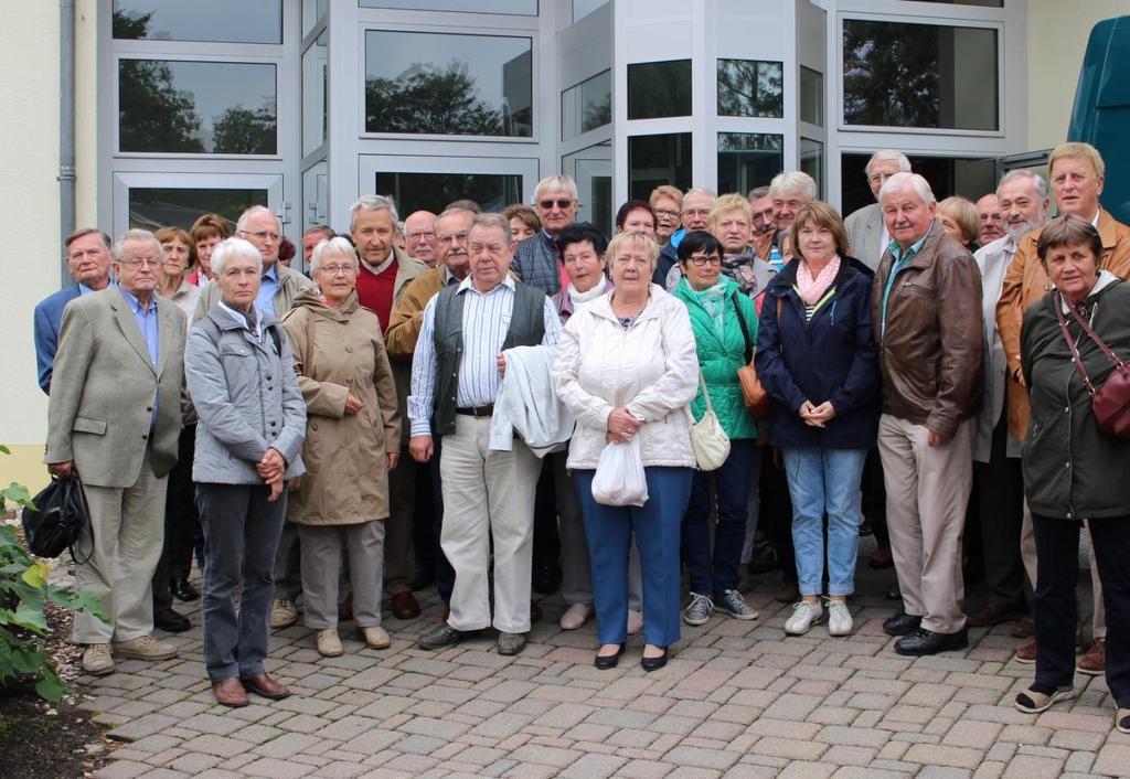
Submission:
POLYGON ((146 449, 158 478, 176 464, 184 387, 184 314, 154 295, 157 365, 116 286, 71 301, 63 312, 47 404, 44 462, 75 461, 82 482, 137 483, 146 449), (150 430, 153 401, 157 417, 150 430))

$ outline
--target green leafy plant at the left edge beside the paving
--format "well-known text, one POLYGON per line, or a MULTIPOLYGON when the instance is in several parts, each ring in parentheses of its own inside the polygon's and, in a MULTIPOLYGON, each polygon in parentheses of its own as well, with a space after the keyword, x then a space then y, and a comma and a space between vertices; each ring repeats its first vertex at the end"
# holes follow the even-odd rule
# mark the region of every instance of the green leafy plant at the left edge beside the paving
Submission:
MULTIPOLYGON (((11 453, 0 445, 0 452, 11 453)), ((27 487, 12 482, 0 488, 0 503, 34 508, 27 487)), ((75 595, 47 581, 50 568, 45 560, 27 553, 16 529, 0 526, 0 686, 35 682, 35 692, 49 701, 58 701, 67 686, 52 667, 43 639, 47 634, 47 601, 76 611, 89 609, 102 620, 98 599, 75 595)))

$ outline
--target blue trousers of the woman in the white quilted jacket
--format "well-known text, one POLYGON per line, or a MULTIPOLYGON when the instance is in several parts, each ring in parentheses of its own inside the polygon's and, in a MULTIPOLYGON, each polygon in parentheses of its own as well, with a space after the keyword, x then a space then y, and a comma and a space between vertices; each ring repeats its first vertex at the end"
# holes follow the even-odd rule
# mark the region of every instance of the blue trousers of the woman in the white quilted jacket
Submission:
MULTIPOLYGON (((679 640, 679 528, 690 496, 690 468, 646 467, 647 502, 601 505, 596 470, 574 470, 592 566, 592 603, 601 643, 624 643, 628 618, 628 548, 635 533, 643 574, 643 635, 668 647, 679 640)), ((739 549, 740 551, 740 549, 739 549)))

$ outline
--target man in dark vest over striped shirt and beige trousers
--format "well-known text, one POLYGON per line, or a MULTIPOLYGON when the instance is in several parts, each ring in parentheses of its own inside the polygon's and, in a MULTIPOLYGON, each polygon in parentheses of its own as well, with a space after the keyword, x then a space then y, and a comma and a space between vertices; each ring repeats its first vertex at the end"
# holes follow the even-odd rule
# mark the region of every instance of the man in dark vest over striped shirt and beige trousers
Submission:
POLYGON ((408 401, 416 461, 432 458, 433 436, 443 440, 440 542, 455 570, 451 616, 421 635, 419 646, 451 646, 494 624, 499 654, 515 655, 530 630, 531 518, 540 461, 521 439, 511 451, 490 450, 490 416, 505 370, 502 352, 556 344, 560 321, 540 289, 510 277, 505 217, 479 214, 471 220, 468 256, 470 276, 444 288, 424 311, 408 401))

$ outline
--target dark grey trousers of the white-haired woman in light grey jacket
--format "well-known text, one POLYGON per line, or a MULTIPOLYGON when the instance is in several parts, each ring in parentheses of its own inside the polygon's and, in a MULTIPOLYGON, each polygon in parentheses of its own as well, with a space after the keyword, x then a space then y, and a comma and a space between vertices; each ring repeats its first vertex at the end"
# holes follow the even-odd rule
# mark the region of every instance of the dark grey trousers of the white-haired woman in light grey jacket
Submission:
POLYGON ((197 485, 205 531, 205 666, 212 682, 264 673, 287 501, 286 490, 275 502, 269 494, 266 485, 197 485))

